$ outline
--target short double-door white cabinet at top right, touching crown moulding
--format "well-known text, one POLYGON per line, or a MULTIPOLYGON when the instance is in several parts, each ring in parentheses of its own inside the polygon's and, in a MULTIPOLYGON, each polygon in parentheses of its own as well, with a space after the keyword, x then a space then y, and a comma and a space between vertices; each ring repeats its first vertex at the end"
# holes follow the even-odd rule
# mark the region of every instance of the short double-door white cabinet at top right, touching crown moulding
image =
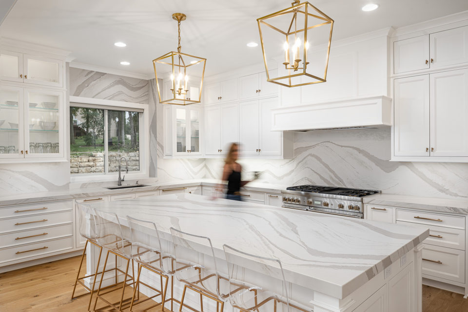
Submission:
POLYGON ((468 63, 468 26, 393 41, 393 74, 468 63))

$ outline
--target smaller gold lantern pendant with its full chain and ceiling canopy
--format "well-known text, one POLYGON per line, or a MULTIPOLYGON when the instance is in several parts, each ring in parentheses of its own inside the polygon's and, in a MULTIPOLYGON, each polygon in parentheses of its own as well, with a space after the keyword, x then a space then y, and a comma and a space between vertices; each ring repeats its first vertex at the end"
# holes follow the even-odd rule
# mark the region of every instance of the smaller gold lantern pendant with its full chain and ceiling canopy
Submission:
POLYGON ((200 103, 206 59, 180 52, 180 22, 186 20, 187 16, 183 13, 174 13, 172 18, 177 21, 177 52, 171 51, 153 60, 159 103, 174 105, 200 103))

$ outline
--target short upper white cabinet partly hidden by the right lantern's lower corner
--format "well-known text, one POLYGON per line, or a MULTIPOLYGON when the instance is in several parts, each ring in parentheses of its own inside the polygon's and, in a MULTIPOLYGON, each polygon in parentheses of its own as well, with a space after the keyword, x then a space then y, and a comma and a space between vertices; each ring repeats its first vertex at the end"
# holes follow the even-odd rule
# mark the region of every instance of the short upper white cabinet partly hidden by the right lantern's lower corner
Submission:
POLYGON ((267 81, 265 72, 239 78, 239 98, 271 96, 278 93, 278 85, 267 81))

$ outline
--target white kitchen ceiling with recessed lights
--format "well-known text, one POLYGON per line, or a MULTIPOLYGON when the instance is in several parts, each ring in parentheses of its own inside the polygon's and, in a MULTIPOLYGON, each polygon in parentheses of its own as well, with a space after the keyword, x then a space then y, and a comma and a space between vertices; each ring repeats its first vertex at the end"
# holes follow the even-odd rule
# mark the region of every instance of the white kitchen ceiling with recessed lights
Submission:
MULTIPOLYGON (((75 62, 151 75, 152 60, 176 49, 182 12, 182 52, 207 58, 206 75, 262 62, 256 19, 292 0, 18 0, 0 36, 72 51, 75 62), (123 41, 126 48, 114 42, 123 41), (127 60, 129 66, 119 62, 127 60)), ((467 0, 312 0, 335 20, 332 40, 395 28, 468 10, 467 0), (380 7, 363 12, 369 2, 380 7)))

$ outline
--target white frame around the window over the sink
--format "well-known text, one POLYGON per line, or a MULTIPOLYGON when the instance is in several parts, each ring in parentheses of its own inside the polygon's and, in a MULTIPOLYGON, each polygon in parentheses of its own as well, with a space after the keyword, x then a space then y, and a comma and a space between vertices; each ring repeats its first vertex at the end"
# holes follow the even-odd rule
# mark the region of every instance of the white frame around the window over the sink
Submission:
MULTIPOLYGON (((70 115, 70 103, 80 103, 83 105, 89 104, 89 108, 97 108, 92 105, 104 106, 101 109, 112 110, 112 108, 122 108, 131 111, 132 109, 143 110, 143 113, 139 113, 138 120, 138 131, 139 131, 139 157, 140 157, 140 170, 129 172, 125 174, 126 179, 140 179, 149 177, 149 105, 143 103, 132 103, 132 102, 123 102, 115 101, 108 99, 100 98, 84 98, 84 97, 75 97, 70 96, 68 101, 68 115, 70 115), (108 108, 105 108, 108 107, 108 108)), ((67 118, 67 158, 70 161, 70 118, 67 118)), ((107 124, 107 119, 104 118, 104 124, 107 124)), ((108 150, 105 148, 104 157, 108 156, 108 150)), ((123 175, 122 175, 123 176, 123 175)), ((99 182, 99 181, 113 181, 117 182, 118 172, 113 173, 104 173, 104 174, 81 174, 81 175, 72 175, 70 174, 70 183, 82 183, 87 181, 99 182)))

